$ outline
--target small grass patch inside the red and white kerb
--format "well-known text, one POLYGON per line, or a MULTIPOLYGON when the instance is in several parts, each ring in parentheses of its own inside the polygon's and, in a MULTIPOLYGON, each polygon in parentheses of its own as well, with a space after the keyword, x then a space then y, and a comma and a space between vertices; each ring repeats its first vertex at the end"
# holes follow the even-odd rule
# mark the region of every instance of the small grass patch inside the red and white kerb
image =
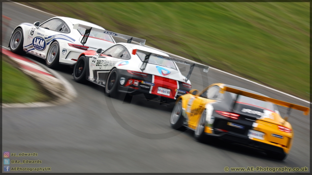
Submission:
POLYGON ((2 103, 44 102, 50 99, 34 80, 3 59, 9 58, 2 55, 2 103))

